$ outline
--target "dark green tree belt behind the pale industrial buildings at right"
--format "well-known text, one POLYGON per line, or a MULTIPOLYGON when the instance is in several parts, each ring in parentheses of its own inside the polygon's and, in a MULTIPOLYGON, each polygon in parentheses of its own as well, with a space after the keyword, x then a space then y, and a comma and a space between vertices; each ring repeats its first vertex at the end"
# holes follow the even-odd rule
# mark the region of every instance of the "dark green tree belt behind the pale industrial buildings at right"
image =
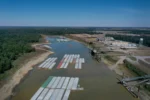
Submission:
POLYGON ((150 36, 127 36, 127 35, 116 35, 116 34, 107 34, 107 37, 113 37, 116 40, 128 41, 132 43, 139 43, 140 38, 143 38, 143 45, 150 47, 150 36))

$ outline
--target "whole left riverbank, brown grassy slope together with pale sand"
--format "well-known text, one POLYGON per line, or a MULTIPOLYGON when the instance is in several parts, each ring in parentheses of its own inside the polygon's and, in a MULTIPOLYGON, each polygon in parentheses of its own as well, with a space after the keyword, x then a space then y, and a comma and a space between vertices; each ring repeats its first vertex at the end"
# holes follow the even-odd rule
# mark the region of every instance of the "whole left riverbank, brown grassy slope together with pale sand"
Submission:
POLYGON ((9 96, 13 95, 13 89, 21 82, 24 76, 33 69, 33 66, 45 60, 53 52, 40 48, 39 45, 44 43, 32 44, 32 47, 35 48, 35 52, 30 54, 25 54, 23 57, 20 57, 17 62, 17 69, 12 69, 10 76, 8 76, 7 81, 3 82, 2 87, 0 88, 0 100, 5 100, 9 96), (11 76, 12 75, 12 76, 11 76))

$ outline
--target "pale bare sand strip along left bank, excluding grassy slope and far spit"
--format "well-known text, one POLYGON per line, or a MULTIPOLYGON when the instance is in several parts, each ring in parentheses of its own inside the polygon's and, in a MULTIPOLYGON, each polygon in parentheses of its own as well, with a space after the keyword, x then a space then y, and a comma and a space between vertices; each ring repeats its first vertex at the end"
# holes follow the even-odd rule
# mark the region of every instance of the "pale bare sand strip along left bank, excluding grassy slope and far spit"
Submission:
POLYGON ((4 100, 10 95, 12 95, 13 88, 20 83, 21 79, 28 73, 28 71, 33 69, 33 66, 42 62, 46 59, 52 52, 44 52, 38 56, 30 58, 30 60, 24 64, 19 70, 15 72, 11 80, 9 80, 1 89, 0 89, 0 100, 4 100))

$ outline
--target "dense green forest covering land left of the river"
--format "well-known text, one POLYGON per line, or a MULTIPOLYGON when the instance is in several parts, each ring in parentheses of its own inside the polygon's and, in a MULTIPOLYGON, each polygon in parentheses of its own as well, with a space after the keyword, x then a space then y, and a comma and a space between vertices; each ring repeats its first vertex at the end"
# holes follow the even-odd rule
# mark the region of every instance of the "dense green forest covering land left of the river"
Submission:
POLYGON ((38 42, 39 38, 35 33, 0 29, 0 74, 14 67, 13 61, 21 55, 35 51, 30 43, 38 42))

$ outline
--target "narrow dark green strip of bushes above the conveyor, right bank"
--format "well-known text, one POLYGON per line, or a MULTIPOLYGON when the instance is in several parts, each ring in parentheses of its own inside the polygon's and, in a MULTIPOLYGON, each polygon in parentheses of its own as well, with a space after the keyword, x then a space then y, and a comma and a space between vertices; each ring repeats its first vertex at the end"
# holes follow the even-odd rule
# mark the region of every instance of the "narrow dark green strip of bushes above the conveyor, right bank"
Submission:
POLYGON ((138 69, 136 66, 134 66, 133 64, 131 64, 129 61, 125 60, 124 61, 125 66, 133 71, 134 73, 136 73, 138 76, 143 76, 143 75, 147 75, 145 72, 141 71, 140 69, 138 69))

